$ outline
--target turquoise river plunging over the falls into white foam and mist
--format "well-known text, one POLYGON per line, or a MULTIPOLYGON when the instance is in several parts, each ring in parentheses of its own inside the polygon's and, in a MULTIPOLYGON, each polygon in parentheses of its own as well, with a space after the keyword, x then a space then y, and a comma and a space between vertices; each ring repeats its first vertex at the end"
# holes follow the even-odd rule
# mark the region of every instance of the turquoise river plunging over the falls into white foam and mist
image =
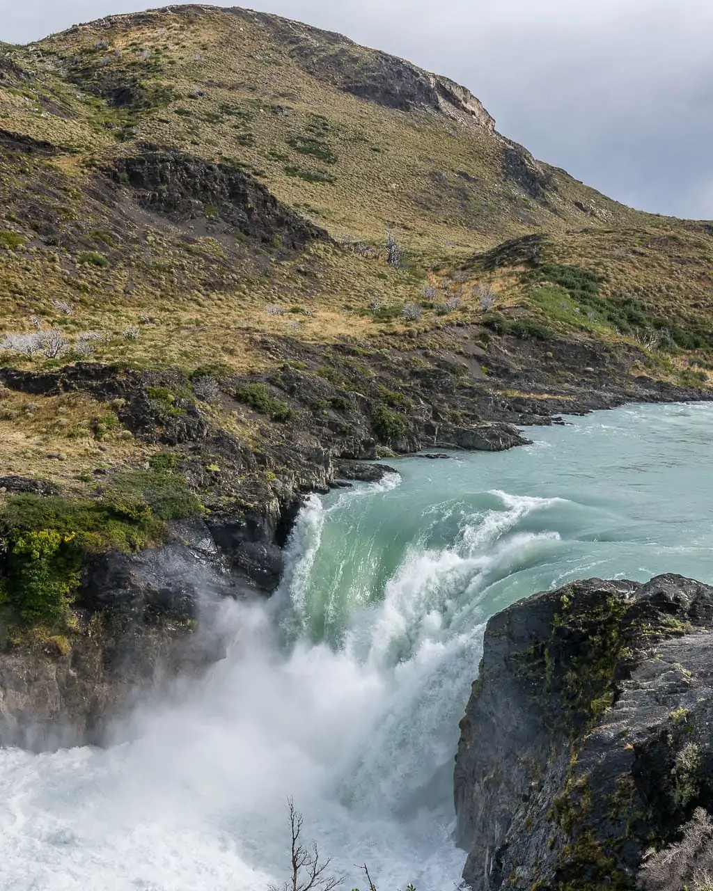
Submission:
POLYGON ((111 748, 0 751, 0 888, 266 891, 291 796, 345 887, 366 862, 380 891, 452 889, 453 757, 488 617, 580 577, 713 582, 713 406, 570 420, 311 498, 281 591, 220 608, 233 644, 201 682, 111 748))

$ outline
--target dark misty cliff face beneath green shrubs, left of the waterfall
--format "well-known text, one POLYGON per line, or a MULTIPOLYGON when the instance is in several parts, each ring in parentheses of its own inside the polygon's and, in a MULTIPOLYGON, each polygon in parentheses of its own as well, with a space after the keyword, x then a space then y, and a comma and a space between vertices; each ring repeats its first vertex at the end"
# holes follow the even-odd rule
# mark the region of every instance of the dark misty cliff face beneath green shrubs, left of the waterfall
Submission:
POLYGON ((232 533, 220 535, 217 520, 185 520, 161 548, 96 555, 66 636, 16 638, 0 614, 0 746, 102 745, 137 700, 223 658, 217 604, 271 593, 282 568, 269 524, 235 520, 232 533))

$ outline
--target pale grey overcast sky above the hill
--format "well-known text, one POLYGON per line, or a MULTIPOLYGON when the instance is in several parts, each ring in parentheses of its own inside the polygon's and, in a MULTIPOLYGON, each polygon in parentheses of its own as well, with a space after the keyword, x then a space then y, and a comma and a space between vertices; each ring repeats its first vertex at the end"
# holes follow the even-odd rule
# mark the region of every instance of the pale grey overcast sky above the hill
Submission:
MULTIPOLYGON (((0 0, 0 39, 26 43, 148 3, 0 0)), ((713 217, 711 0, 248 5, 454 78, 485 103, 502 133, 612 198, 656 213, 713 217)))

